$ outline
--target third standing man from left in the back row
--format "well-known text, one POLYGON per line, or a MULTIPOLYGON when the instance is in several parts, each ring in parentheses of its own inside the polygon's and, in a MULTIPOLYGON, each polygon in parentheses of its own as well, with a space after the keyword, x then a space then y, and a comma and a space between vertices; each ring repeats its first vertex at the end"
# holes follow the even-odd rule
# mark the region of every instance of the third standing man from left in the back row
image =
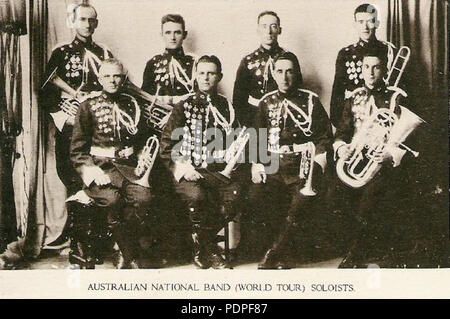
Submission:
MULTIPOLYGON (((273 79, 273 61, 285 52, 278 44, 281 34, 280 18, 273 11, 264 11, 258 15, 258 37, 260 46, 245 56, 238 68, 234 82, 233 105, 236 116, 242 125, 251 127, 261 97, 276 90, 273 79)), ((299 65, 299 63, 297 63, 299 65)), ((299 70, 299 84, 302 75, 299 70)))

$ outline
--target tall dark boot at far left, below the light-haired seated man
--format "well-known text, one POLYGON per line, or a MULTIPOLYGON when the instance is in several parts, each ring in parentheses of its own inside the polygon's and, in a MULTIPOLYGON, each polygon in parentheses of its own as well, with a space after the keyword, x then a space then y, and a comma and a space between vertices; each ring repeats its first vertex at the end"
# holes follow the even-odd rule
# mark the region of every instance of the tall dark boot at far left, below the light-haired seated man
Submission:
POLYGON ((80 269, 95 269, 93 258, 92 206, 68 203, 70 252, 69 263, 80 269))

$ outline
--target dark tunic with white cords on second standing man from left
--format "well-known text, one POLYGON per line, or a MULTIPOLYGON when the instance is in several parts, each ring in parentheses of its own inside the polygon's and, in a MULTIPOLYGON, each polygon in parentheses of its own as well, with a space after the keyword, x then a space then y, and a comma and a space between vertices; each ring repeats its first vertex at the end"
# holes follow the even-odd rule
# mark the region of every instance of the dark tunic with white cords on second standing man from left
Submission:
POLYGON ((142 90, 158 96, 163 104, 173 105, 193 90, 195 58, 183 48, 168 50, 149 60, 145 66, 142 90))

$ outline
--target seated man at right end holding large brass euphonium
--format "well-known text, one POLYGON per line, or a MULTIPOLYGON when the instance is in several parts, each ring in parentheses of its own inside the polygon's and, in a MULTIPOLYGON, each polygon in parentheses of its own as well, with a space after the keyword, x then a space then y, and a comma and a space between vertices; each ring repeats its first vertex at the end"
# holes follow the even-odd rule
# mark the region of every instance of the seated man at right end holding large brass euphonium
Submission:
POLYGON ((345 101, 333 144, 337 176, 345 190, 342 199, 355 218, 356 243, 340 267, 366 267, 371 262, 392 266, 396 261, 388 255, 395 254, 398 242, 390 237, 398 224, 393 217, 404 210, 399 206, 401 197, 396 196, 405 187, 400 163, 412 158, 405 154, 418 155, 402 139, 422 120, 399 106, 399 98, 406 97, 403 90, 386 87, 384 50, 367 50, 361 67, 364 86, 345 101))

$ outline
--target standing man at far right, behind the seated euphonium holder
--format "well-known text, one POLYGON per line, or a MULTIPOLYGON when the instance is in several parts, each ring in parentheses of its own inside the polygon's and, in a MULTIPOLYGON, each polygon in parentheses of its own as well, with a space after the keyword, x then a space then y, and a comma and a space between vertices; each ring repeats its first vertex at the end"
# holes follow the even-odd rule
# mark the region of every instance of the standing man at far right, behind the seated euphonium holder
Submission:
POLYGON ((342 117, 345 99, 351 93, 364 85, 362 76, 362 58, 367 50, 380 49, 387 59, 388 69, 391 67, 395 46, 390 42, 379 41, 376 30, 380 24, 378 12, 371 4, 361 4, 354 12, 354 25, 359 39, 338 53, 336 59, 336 73, 330 102, 331 123, 337 127, 342 117))

